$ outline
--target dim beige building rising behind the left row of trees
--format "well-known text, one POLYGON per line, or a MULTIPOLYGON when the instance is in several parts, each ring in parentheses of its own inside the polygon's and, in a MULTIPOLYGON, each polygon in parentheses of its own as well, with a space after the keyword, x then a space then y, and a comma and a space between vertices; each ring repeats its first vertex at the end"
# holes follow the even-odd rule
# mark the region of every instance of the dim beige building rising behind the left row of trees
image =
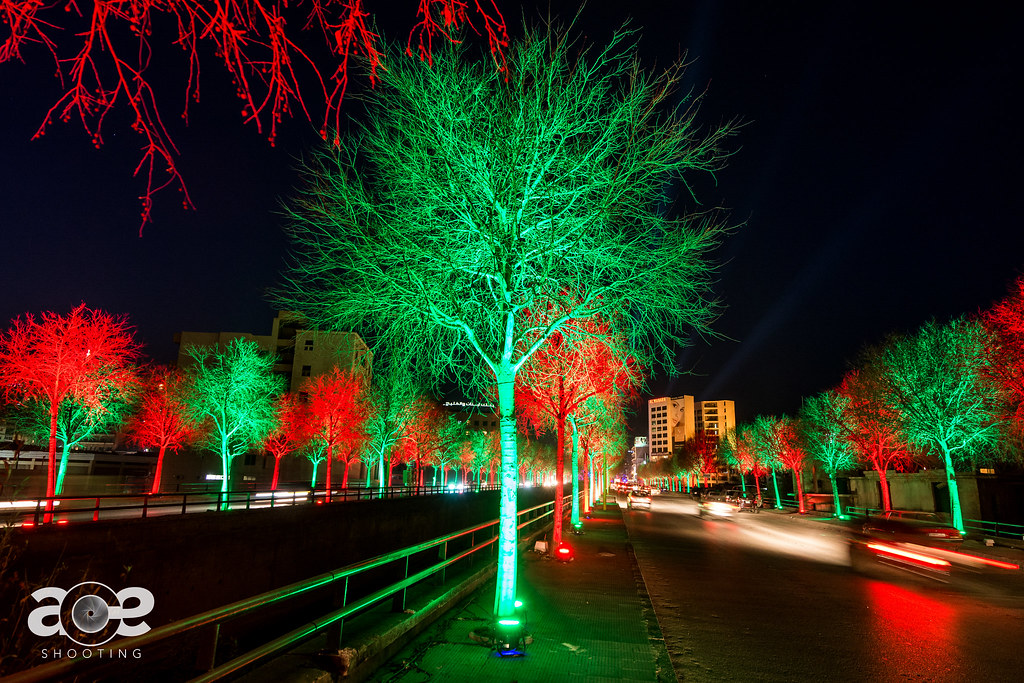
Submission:
POLYGON ((370 377, 374 354, 362 338, 354 332, 321 332, 307 329, 301 315, 279 311, 269 335, 248 332, 179 332, 174 335, 178 345, 178 368, 193 364, 190 346, 222 347, 233 339, 256 342, 267 353, 278 356, 273 370, 288 381, 288 389, 299 392, 310 377, 318 377, 334 366, 370 377))

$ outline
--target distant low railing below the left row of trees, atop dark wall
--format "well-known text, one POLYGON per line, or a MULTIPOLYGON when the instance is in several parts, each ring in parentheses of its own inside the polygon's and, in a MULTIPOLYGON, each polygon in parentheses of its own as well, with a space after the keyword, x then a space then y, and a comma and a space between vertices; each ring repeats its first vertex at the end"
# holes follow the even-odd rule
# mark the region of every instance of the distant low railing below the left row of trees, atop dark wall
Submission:
MULTIPOLYGON (((190 512, 216 510, 252 510, 291 505, 343 503, 411 496, 439 496, 474 490, 497 490, 498 485, 480 486, 382 486, 332 489, 279 489, 193 492, 176 494, 118 494, 111 496, 56 496, 0 503, 2 511, 10 511, 8 523, 22 526, 41 524, 67 524, 70 522, 99 521, 100 519, 145 518, 190 512), (52 510, 47 504, 52 502, 52 510)), ((2 523, 2 520, 0 520, 2 523)))

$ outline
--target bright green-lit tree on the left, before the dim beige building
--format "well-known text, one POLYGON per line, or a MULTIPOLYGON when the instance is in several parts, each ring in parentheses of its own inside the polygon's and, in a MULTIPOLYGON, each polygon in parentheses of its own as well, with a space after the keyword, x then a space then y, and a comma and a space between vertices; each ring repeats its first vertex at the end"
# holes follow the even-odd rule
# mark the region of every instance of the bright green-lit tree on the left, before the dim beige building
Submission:
POLYGON ((226 494, 231 461, 259 446, 276 426, 285 381, 273 373, 274 357, 246 339, 223 348, 191 346, 186 353, 191 365, 183 402, 189 418, 205 427, 200 444, 220 457, 220 492, 226 494))

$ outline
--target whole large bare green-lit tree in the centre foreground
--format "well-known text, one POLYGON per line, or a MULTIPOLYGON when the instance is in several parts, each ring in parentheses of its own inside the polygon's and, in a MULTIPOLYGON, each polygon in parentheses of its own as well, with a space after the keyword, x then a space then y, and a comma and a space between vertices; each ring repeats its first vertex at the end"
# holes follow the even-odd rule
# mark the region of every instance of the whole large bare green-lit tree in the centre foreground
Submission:
POLYGON ((432 66, 392 53, 367 116, 288 206, 284 305, 410 349, 467 394, 497 386, 499 617, 516 597, 516 374, 572 319, 603 315, 652 368, 716 313, 709 256, 726 226, 676 202, 689 172, 722 165, 734 126, 698 129, 682 65, 644 71, 633 39, 527 31, 503 73, 465 45, 432 66), (564 312, 522 324, 549 306, 564 312))

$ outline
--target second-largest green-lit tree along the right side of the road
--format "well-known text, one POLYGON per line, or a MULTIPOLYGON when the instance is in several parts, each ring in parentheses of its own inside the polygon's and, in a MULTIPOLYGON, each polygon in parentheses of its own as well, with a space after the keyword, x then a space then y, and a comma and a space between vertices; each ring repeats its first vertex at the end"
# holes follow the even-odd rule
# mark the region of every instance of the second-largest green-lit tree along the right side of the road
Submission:
POLYGON ((843 517, 843 504, 836 485, 836 475, 857 466, 856 451, 849 438, 846 416, 850 398, 839 391, 825 391, 804 399, 800 425, 804 443, 811 457, 821 463, 831 484, 837 517, 843 517))

